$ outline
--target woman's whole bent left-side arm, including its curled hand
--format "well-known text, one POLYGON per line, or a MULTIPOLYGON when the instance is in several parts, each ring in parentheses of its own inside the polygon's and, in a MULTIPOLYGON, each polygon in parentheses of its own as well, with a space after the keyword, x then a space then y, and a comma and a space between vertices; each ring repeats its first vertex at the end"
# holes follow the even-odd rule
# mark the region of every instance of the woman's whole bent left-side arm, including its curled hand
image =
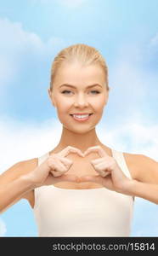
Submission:
POLYGON ((72 161, 65 158, 71 152, 82 155, 78 148, 68 146, 59 154, 49 157, 40 166, 38 159, 34 158, 19 162, 3 172, 0 176, 0 212, 21 198, 27 198, 27 192, 37 187, 66 181, 76 183, 76 175, 64 174, 72 165, 72 161), (65 165, 59 163, 59 158, 65 161, 65 165), (56 173, 52 173, 53 171, 56 173))

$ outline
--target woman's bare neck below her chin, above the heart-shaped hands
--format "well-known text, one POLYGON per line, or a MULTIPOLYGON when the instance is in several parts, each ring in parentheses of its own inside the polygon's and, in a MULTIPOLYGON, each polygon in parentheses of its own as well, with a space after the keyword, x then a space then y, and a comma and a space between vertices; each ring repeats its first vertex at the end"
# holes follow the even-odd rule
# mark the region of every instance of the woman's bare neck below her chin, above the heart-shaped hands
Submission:
POLYGON ((63 127, 61 138, 56 148, 62 150, 67 146, 71 146, 74 148, 79 148, 82 150, 82 152, 84 152, 87 148, 98 145, 101 146, 103 144, 100 143, 95 128, 91 131, 87 131, 86 133, 79 134, 63 127))

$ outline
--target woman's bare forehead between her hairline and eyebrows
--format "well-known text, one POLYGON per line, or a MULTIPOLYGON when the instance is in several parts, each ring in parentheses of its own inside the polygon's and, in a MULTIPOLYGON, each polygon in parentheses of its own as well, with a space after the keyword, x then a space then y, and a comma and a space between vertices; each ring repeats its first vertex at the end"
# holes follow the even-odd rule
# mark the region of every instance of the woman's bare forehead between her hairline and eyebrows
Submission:
POLYGON ((82 67, 78 63, 63 64, 56 73, 55 84, 104 84, 104 71, 99 65, 82 67))

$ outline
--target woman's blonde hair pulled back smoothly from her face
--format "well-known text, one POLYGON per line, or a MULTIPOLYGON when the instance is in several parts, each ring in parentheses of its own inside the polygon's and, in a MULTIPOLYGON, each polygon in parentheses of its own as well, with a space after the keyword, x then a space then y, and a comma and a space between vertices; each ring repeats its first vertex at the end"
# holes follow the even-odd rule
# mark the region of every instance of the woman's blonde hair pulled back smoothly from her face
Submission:
POLYGON ((104 57, 99 53, 99 50, 88 46, 87 44, 74 44, 65 49, 62 49, 55 56, 51 67, 50 90, 53 90, 54 77, 62 65, 62 63, 79 62, 82 66, 98 64, 104 70, 105 84, 109 90, 108 67, 104 57))

